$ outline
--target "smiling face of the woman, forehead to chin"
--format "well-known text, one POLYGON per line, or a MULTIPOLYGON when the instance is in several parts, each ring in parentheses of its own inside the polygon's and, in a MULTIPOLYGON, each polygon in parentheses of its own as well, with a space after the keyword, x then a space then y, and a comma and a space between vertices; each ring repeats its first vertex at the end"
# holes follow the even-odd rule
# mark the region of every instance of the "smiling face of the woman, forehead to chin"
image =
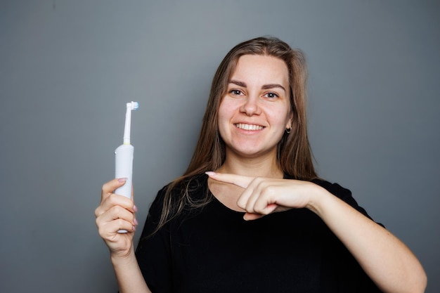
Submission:
POLYGON ((226 154, 276 155, 276 145, 292 124, 289 88, 283 60, 259 55, 238 59, 219 107, 226 154))

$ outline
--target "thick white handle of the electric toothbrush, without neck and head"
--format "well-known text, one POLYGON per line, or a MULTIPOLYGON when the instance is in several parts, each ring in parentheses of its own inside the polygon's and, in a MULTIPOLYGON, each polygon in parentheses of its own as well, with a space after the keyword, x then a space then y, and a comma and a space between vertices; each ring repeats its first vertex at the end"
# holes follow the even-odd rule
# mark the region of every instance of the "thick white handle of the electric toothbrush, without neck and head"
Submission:
MULTIPOLYGON (((119 145, 115 150, 115 178, 127 178, 124 185, 117 188, 115 193, 131 198, 131 176, 133 174, 133 145, 119 145)), ((127 230, 119 230, 118 233, 127 233, 127 230)))

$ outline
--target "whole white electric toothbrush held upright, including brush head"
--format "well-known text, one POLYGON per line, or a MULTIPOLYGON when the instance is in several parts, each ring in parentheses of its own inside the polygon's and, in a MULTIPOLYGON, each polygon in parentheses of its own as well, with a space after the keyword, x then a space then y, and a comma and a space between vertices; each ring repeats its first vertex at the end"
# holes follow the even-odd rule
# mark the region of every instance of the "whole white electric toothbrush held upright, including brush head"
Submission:
MULTIPOLYGON (((119 145, 115 150, 115 178, 127 178, 124 185, 117 188, 115 193, 131 198, 133 174, 133 153, 134 147, 130 144, 130 126, 131 126, 131 110, 139 108, 138 102, 127 103, 127 112, 125 113, 125 127, 124 127, 124 144, 119 145)), ((127 230, 121 229, 118 233, 127 233, 127 230)))

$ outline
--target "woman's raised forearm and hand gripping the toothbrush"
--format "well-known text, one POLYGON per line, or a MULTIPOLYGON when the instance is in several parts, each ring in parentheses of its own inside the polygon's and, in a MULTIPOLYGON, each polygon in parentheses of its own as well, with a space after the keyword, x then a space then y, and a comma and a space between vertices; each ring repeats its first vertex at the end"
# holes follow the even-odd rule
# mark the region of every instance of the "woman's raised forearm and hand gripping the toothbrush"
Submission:
POLYGON ((113 193, 124 185, 124 179, 105 183, 101 192, 101 204, 95 210, 98 233, 110 250, 110 258, 119 285, 119 292, 150 292, 139 269, 134 254, 133 237, 137 221, 133 201, 113 193), (117 233, 125 229, 127 233, 117 233))

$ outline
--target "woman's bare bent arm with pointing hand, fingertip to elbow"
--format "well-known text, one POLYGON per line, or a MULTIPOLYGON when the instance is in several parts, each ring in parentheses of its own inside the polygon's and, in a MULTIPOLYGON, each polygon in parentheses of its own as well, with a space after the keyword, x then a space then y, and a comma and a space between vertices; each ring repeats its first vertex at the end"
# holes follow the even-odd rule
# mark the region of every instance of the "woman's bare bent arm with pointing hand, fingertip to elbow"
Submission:
POLYGON ((325 188, 308 181, 207 174, 214 180, 245 188, 238 199, 238 206, 246 211, 245 219, 291 208, 310 209, 323 219, 383 292, 425 292, 425 271, 410 249, 325 188))

